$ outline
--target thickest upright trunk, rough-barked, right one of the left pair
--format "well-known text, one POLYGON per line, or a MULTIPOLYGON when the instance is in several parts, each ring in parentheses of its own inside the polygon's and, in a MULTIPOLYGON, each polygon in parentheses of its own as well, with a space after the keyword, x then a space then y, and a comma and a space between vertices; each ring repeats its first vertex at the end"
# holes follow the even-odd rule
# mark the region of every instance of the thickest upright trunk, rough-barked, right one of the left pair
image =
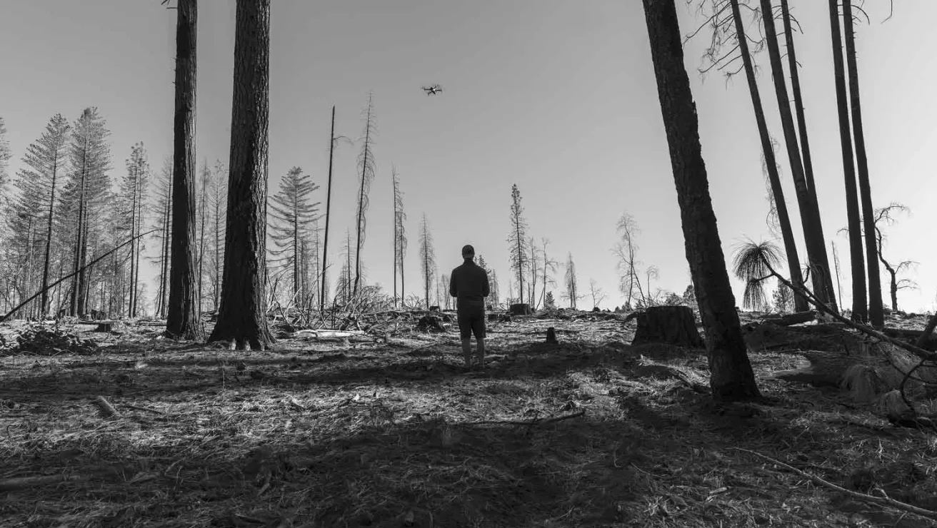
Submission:
POLYGON ((218 321, 209 341, 263 350, 267 326, 267 123, 270 117, 270 0, 238 0, 234 36, 228 229, 218 321))

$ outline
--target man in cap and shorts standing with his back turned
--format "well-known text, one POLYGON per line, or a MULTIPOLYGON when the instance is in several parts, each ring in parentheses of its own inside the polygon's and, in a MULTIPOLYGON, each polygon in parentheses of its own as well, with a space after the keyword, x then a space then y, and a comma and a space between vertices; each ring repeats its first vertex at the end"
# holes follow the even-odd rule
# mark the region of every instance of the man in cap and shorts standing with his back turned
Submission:
POLYGON ((465 261, 453 270, 449 295, 455 298, 455 310, 462 338, 462 355, 471 367, 471 336, 478 342, 478 365, 484 368, 484 298, 488 297, 488 273, 475 264, 475 248, 462 248, 465 261))

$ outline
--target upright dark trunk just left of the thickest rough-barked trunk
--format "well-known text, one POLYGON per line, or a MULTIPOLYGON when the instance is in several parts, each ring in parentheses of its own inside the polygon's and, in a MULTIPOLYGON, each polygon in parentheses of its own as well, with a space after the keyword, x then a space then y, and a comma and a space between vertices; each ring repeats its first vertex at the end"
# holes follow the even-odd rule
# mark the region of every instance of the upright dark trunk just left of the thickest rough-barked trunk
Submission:
POLYGON ((172 239, 166 331, 201 339, 195 277, 195 80, 198 0, 176 5, 175 119, 172 127, 172 239))

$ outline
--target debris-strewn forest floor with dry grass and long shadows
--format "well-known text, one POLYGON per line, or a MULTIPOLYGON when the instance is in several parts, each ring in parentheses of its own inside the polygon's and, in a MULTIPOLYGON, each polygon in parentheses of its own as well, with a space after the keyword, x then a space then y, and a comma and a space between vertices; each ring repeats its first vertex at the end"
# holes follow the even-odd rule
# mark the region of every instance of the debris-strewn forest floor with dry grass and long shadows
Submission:
POLYGON ((755 453, 934 510, 937 434, 772 378, 792 353, 750 354, 762 401, 713 403, 705 351, 629 345, 634 326, 489 322, 483 372, 457 330, 409 323, 266 352, 67 327, 100 348, 0 357, 0 525, 934 525, 755 453))

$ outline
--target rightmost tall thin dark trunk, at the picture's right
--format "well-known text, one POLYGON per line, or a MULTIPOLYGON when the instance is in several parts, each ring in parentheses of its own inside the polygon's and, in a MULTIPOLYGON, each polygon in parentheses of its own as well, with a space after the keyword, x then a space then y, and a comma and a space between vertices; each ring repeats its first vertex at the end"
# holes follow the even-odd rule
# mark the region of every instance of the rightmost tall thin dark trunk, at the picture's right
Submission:
POLYGON ((866 139, 862 132, 862 104, 859 99, 859 67, 855 60, 855 31, 853 28, 852 0, 842 0, 842 24, 846 30, 846 66, 849 70, 849 100, 853 111, 853 138, 855 139, 855 169, 862 206, 862 223, 866 237, 866 264, 869 266, 869 322, 874 328, 885 326, 882 310, 882 275, 878 267, 878 249, 875 236, 875 212, 872 209, 869 160, 866 157, 866 139))

